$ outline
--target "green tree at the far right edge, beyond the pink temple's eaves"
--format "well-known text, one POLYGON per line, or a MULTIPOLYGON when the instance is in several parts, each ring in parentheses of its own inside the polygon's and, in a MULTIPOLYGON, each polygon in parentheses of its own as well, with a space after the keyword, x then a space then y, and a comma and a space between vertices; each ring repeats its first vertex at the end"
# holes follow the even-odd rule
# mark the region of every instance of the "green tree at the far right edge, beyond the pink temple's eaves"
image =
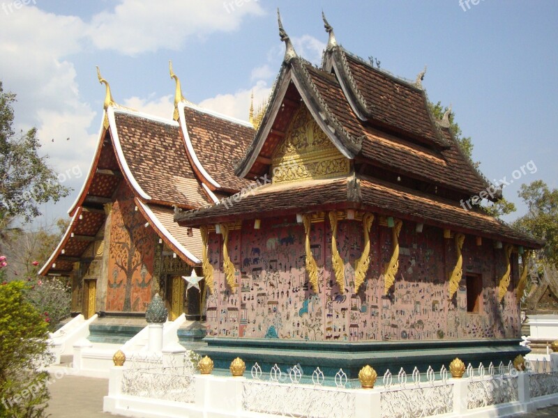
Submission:
POLYGON ((550 189, 543 180, 521 185, 519 196, 527 204, 527 213, 514 226, 546 241, 538 258, 558 268, 558 189, 550 189))

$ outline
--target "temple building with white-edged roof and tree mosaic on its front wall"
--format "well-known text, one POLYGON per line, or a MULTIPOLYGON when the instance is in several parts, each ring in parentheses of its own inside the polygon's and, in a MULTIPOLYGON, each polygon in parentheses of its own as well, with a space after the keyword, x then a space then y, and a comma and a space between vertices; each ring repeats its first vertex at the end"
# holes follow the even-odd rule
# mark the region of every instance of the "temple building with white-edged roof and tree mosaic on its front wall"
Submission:
MULTIPOLYGON (((188 102, 170 72, 172 119, 119 106, 98 74, 106 98, 96 153, 69 210, 70 226, 40 270, 71 280, 72 311, 85 318, 143 318, 160 293, 170 320, 182 313, 199 320, 203 281, 187 292, 183 276, 201 265, 202 240, 198 229, 173 221, 174 208, 214 203, 252 183, 234 176, 230 160, 219 156, 240 158, 254 127, 188 102)), ((138 324, 130 335, 144 319, 138 324)), ((126 341, 126 333, 114 331, 111 342, 126 341)))

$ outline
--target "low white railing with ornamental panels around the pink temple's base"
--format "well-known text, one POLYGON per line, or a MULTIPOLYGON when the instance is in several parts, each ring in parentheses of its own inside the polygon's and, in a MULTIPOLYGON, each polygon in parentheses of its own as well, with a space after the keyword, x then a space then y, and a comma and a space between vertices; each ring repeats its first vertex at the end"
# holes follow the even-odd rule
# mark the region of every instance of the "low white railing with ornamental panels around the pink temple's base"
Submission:
MULTIPOLYGON (((304 376, 299 365, 263 372, 256 363, 248 378, 200 375, 187 354, 180 361, 165 355, 133 357, 111 371, 105 412, 137 417, 382 418, 499 417, 558 403, 558 368, 550 362, 467 366, 463 378, 451 378, 445 366, 396 376, 388 370, 374 389, 361 389, 340 369, 304 376), (149 357, 149 358, 148 358, 149 357), (177 364, 174 364, 177 363, 177 364), (250 378, 251 377, 251 378, 250 378), (328 385, 324 385, 324 382, 328 385), (351 387, 351 386, 354 386, 351 387)), ((195 361, 195 359, 194 359, 195 361)))

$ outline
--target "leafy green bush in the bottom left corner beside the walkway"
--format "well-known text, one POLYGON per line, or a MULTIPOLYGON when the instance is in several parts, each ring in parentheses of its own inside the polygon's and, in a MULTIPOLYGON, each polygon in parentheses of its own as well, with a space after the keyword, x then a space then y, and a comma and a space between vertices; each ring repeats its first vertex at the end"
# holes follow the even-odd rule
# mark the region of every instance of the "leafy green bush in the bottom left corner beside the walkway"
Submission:
POLYGON ((48 324, 27 302, 27 290, 22 281, 0 284, 0 417, 43 417, 50 398, 48 324))

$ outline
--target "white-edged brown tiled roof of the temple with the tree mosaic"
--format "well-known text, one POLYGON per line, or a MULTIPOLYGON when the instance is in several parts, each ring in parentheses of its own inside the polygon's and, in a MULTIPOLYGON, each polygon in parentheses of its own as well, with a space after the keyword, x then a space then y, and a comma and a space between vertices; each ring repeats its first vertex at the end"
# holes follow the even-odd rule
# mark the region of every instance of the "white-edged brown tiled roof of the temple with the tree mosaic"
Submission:
POLYGON ((105 107, 91 168, 69 210, 72 220, 39 273, 73 270, 105 223, 103 205, 123 181, 161 240, 186 263, 199 264, 199 231, 189 236, 174 223, 174 207, 204 206, 216 201, 214 192, 228 196, 250 183, 232 175, 231 157, 243 153, 253 128, 185 100, 177 104, 178 121, 142 114, 114 104, 108 86, 105 107))

